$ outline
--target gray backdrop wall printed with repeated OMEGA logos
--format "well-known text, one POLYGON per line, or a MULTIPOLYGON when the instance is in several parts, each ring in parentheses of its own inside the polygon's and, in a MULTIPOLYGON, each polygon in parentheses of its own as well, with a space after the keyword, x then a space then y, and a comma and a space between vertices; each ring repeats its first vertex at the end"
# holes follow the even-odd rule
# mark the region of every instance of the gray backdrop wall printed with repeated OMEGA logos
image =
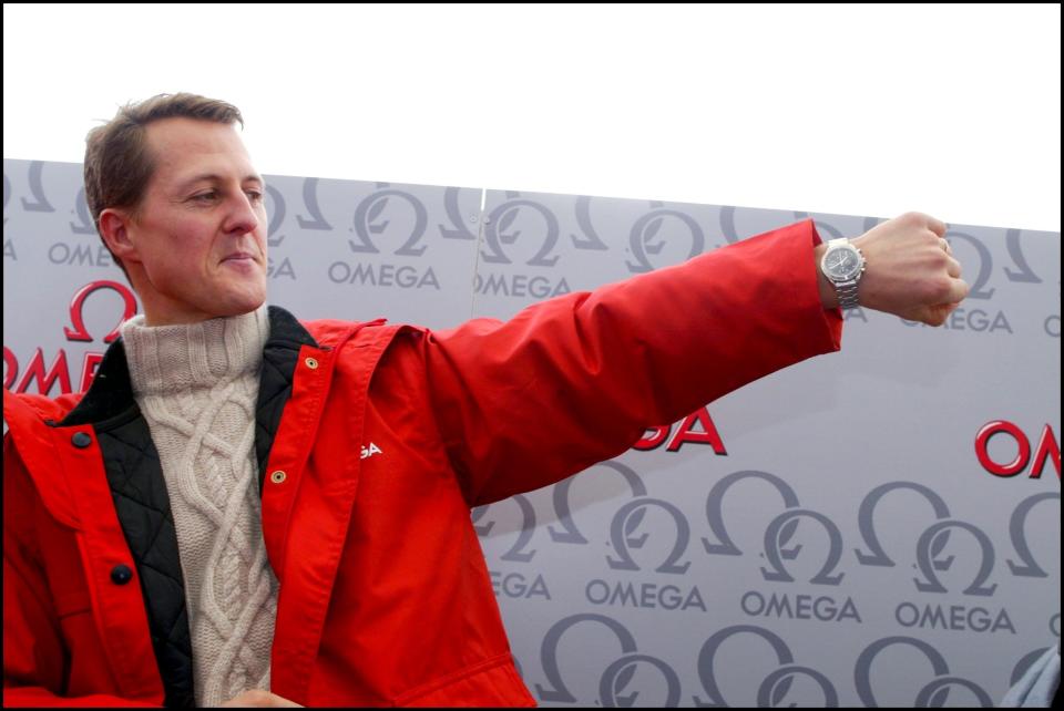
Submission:
MULTIPOLYGON (((268 181, 270 302, 433 328, 809 216, 268 181)), ((81 390, 136 308, 81 166, 6 159, 3 205, 4 387, 81 390)), ((882 219, 814 217, 825 239, 882 219)), ((1056 642, 1060 234, 947 238, 972 293, 945 328, 849 312, 841 353, 472 512, 542 704, 989 705, 1056 642)))

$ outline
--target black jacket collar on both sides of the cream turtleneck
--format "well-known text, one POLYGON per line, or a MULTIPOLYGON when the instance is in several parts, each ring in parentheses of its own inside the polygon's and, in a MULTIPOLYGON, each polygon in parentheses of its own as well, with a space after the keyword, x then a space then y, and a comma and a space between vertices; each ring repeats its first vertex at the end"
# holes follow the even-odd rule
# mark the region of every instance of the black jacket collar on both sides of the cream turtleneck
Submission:
MULTIPOLYGON (((266 340, 265 352, 298 352, 303 346, 319 348, 310 332, 285 309, 270 306, 267 315, 269 338, 266 340)), ((134 406, 136 401, 130 380, 130 364, 125 357, 125 347, 119 338, 108 348, 92 385, 58 426, 102 423, 127 413, 134 406)))

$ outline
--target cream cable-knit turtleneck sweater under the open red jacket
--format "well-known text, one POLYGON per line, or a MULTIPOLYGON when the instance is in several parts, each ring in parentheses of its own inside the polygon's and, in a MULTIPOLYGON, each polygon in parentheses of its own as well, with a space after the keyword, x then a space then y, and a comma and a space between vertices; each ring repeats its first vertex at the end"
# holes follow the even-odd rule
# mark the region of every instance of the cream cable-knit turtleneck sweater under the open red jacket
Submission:
POLYGON ((181 550, 196 704, 269 689, 277 579, 256 491, 255 404, 266 306, 183 326, 122 326, 181 550))

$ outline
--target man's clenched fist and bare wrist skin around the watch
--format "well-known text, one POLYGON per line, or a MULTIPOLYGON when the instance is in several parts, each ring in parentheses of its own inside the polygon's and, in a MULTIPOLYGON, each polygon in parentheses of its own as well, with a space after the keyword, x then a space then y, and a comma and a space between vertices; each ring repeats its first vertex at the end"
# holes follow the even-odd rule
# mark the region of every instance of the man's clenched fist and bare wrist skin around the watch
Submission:
MULTIPOLYGON (((944 236, 945 224, 906 213, 853 239, 866 261, 857 291, 860 305, 929 326, 944 323, 969 290, 944 236)), ((833 308, 838 296, 819 268, 826 249, 827 245, 816 249, 817 274, 821 300, 833 308)))

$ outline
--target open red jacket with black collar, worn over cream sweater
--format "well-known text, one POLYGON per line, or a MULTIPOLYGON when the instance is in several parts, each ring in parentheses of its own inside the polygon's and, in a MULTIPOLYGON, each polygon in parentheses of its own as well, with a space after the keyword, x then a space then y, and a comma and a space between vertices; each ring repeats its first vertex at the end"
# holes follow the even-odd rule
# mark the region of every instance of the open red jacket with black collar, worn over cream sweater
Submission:
MULTIPOLYGON (((806 220, 446 331, 300 326, 272 310, 278 350, 267 343, 263 388, 275 370, 289 378, 257 414, 263 534, 280 581, 272 691, 306 705, 534 704, 470 507, 616 456, 647 425, 837 350, 818 243, 806 220)), ((178 699, 184 672, 171 667, 182 664, 160 663, 172 650, 156 608, 170 594, 153 592, 157 565, 145 567, 136 526, 116 513, 127 497, 116 486, 161 475, 145 464, 150 442, 141 454, 115 444, 143 418, 121 347, 108 358, 84 396, 4 392, 4 705, 178 699), (119 470, 135 476, 116 483, 119 470)))

